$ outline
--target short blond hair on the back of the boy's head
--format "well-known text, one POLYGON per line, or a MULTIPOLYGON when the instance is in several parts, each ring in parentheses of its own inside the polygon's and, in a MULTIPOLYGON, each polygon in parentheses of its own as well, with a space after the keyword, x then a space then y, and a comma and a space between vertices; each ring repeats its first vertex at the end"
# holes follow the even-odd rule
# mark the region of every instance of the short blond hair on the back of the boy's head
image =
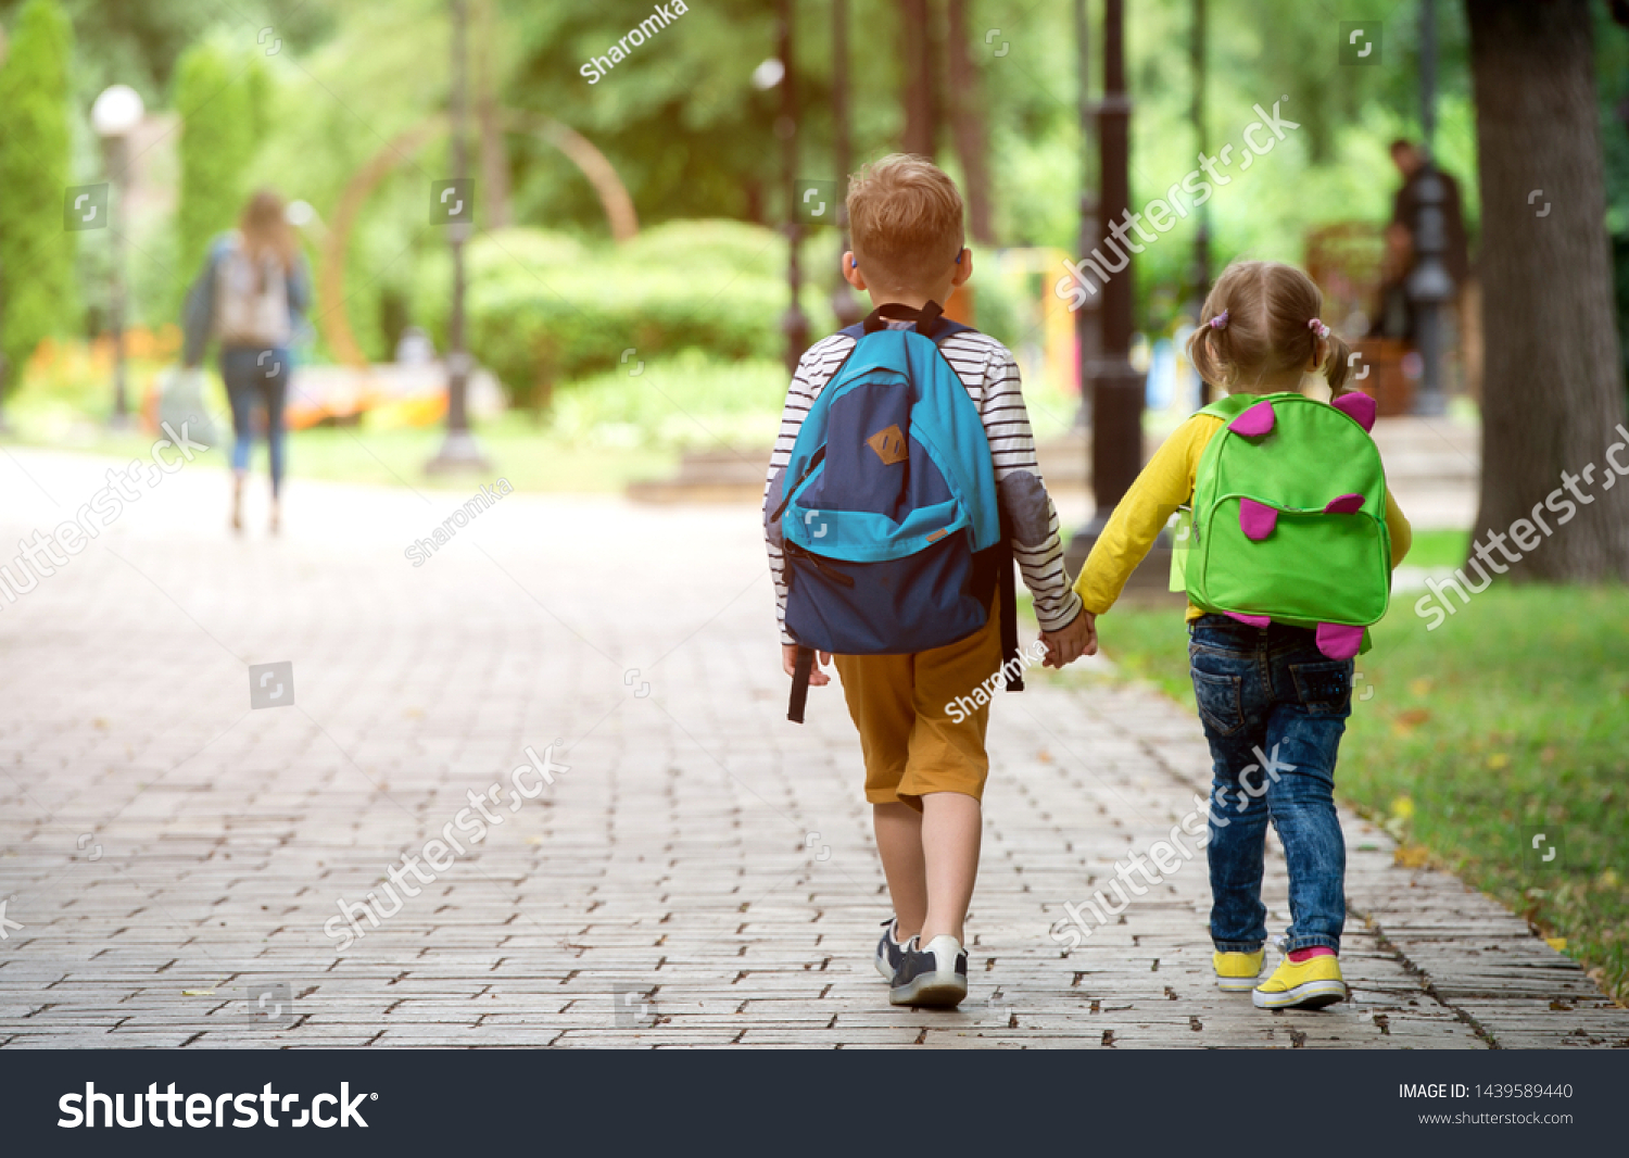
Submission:
POLYGON ((849 178, 854 257, 875 290, 943 277, 963 248, 961 194, 925 156, 891 153, 849 178))

